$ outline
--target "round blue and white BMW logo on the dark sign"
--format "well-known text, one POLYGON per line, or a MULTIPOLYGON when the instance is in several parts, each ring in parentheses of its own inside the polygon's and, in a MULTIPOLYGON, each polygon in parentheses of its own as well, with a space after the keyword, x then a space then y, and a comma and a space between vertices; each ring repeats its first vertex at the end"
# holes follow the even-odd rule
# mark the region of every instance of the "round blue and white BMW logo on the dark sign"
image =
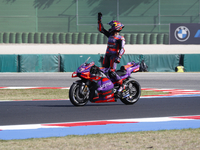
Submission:
POLYGON ((175 30, 174 36, 180 42, 187 41, 190 37, 190 30, 185 26, 180 26, 175 30))

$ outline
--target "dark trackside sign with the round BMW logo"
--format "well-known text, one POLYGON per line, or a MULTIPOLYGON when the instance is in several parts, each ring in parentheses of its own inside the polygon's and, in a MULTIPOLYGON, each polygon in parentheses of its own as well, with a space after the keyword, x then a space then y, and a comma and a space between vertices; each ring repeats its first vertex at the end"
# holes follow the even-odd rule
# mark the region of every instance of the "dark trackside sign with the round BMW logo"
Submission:
POLYGON ((200 24, 170 24, 170 44, 200 44, 200 24))

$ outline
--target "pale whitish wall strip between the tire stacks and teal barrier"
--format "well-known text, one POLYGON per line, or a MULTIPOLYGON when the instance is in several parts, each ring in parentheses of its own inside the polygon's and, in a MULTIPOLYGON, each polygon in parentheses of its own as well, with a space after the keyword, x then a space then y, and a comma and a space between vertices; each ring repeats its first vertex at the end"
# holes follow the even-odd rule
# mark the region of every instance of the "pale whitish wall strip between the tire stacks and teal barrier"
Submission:
MULTIPOLYGON (((125 45, 125 54, 200 54, 199 45, 125 45)), ((0 44, 0 54, 105 54, 106 45, 0 44)))

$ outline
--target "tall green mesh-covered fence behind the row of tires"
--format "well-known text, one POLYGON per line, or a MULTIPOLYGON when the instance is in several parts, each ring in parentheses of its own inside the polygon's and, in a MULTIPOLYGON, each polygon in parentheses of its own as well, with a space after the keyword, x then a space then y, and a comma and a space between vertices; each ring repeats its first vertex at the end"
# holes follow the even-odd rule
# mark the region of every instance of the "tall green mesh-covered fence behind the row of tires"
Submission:
POLYGON ((100 11, 105 28, 119 20, 124 33, 168 33, 170 23, 200 23, 200 0, 3 0, 0 32, 93 33, 100 11))

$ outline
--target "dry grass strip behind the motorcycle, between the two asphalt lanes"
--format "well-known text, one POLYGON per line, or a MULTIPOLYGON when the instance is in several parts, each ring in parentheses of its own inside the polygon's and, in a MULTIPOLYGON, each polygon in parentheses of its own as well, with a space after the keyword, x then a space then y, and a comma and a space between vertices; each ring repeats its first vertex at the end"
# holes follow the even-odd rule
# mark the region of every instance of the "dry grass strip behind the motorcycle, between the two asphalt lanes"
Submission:
MULTIPOLYGON (((142 91, 144 95, 160 95, 166 92, 142 91)), ((68 89, 1 89, 0 100, 69 99, 68 89)))

